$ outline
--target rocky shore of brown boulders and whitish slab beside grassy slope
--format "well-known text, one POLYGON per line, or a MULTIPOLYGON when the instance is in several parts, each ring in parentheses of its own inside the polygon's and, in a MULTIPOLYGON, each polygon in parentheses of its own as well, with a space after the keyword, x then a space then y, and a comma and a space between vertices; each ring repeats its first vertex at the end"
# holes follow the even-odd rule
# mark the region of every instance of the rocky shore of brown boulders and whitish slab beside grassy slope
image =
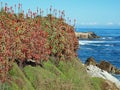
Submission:
POLYGON ((87 73, 91 77, 99 77, 108 80, 108 84, 111 86, 109 87, 111 88, 110 90, 113 90, 114 84, 118 88, 117 90, 120 90, 120 81, 116 77, 112 76, 112 74, 120 74, 120 69, 106 61, 97 63, 93 57, 88 58, 85 65, 87 73))

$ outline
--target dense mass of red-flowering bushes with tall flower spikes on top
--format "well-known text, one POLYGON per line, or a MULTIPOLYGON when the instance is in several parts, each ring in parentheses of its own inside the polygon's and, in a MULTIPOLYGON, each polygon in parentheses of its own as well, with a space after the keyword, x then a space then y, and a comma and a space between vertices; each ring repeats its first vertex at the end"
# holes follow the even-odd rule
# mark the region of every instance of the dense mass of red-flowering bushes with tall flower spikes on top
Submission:
MULTIPOLYGON (((22 68, 28 60, 42 65, 54 57, 56 65, 60 60, 72 60, 76 56, 78 40, 74 27, 64 20, 65 12, 49 9, 50 14, 42 16, 42 9, 24 14, 22 5, 9 7, 7 3, 0 10, 0 81, 8 79, 13 62, 22 68), (16 10, 18 13, 16 14, 16 10), (53 12, 53 13, 52 13, 53 12), (57 17, 59 13, 59 17, 57 17)), ((68 20, 71 23, 71 20, 68 20)), ((76 20, 74 20, 75 23, 76 20)))

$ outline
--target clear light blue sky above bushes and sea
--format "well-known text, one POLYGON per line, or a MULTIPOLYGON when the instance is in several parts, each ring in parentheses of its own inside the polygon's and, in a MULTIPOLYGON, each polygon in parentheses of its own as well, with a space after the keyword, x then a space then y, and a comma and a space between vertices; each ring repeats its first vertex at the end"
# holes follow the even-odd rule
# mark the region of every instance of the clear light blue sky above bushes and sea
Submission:
POLYGON ((8 5, 22 3, 25 11, 51 5, 65 10, 66 18, 76 19, 78 27, 120 27, 120 0, 0 0, 8 5))

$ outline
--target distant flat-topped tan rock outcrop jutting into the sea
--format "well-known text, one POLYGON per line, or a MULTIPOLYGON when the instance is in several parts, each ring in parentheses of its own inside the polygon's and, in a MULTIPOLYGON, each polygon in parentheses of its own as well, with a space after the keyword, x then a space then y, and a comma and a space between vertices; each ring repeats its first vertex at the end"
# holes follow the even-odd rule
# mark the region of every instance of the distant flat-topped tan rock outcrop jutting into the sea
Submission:
POLYGON ((94 32, 75 32, 79 39, 94 39, 99 38, 94 32))

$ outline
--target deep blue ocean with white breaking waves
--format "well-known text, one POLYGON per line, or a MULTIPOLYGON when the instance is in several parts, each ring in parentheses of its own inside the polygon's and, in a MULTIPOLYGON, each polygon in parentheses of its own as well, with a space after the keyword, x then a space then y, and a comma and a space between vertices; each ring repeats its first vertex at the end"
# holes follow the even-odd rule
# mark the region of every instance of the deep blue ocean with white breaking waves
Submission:
MULTIPOLYGON (((105 60, 120 69, 120 29, 81 29, 76 32, 94 32, 100 38, 79 40, 78 57, 83 63, 88 57, 94 57, 99 63, 105 60)), ((115 75, 120 80, 120 75, 115 75)))

